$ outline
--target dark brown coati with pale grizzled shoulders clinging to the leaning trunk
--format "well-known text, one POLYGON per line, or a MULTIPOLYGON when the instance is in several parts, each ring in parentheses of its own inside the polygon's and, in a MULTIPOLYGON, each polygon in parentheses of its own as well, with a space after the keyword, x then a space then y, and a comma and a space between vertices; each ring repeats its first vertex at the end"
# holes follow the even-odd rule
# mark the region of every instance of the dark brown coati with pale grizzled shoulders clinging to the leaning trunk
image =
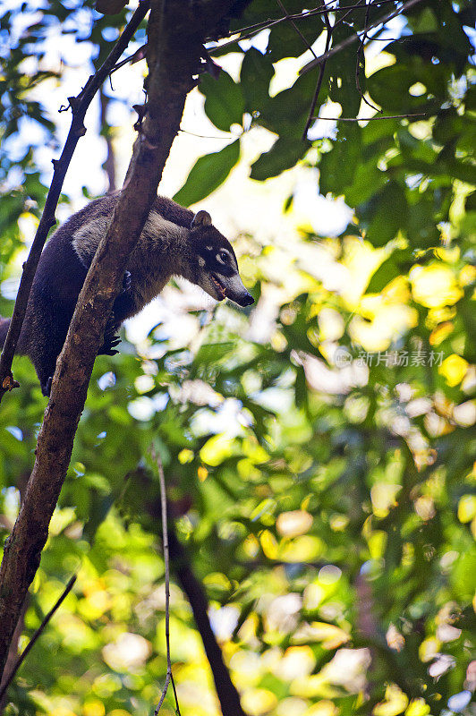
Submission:
MULTIPOLYGON (((88 268, 111 221, 120 192, 91 201, 51 236, 38 262, 21 328, 17 353, 28 355, 41 390, 49 396, 56 358, 63 348, 72 313, 88 268)), ((116 331, 160 294, 172 276, 182 276, 212 298, 240 306, 254 299, 242 285, 231 243, 211 223, 207 211, 193 214, 157 196, 132 251, 98 354, 117 353, 116 331)), ((0 346, 9 319, 0 319, 0 346)))

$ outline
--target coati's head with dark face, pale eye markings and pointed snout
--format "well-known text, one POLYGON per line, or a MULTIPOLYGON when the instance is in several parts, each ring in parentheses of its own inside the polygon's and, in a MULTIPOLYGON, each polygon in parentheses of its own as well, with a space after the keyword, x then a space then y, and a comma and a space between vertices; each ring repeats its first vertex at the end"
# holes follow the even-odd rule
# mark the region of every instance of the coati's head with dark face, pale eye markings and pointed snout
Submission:
POLYGON ((198 256, 195 281, 216 301, 229 298, 239 306, 250 306, 254 298, 242 284, 232 244, 212 226, 208 211, 199 211, 191 221, 191 241, 198 256))

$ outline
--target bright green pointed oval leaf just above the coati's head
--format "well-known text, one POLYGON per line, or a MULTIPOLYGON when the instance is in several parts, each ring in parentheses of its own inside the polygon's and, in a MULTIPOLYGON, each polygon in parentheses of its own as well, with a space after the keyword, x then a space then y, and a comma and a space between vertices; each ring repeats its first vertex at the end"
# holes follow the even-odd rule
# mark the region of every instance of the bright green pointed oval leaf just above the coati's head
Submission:
POLYGON ((239 158, 240 140, 232 141, 221 151, 200 157, 191 167, 187 181, 175 194, 174 200, 183 206, 190 206, 205 199, 225 182, 239 158))

